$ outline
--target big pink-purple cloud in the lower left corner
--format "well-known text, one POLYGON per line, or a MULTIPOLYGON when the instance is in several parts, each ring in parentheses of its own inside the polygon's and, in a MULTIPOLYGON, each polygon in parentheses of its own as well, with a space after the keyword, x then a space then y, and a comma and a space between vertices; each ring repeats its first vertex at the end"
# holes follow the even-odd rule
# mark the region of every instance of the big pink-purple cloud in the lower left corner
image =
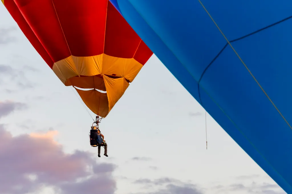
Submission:
POLYGON ((113 194, 115 165, 97 163, 89 152, 66 154, 56 131, 13 137, 0 125, 0 193, 22 194, 51 187, 60 194, 113 194))

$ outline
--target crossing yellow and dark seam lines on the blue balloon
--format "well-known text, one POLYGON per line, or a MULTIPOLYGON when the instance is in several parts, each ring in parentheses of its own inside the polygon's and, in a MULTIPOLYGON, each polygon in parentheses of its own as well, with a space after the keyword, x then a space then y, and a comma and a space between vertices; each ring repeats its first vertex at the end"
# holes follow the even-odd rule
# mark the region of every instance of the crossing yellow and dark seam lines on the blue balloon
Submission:
MULTIPOLYGON (((263 89, 263 87, 260 85, 260 83, 258 82, 258 80, 255 78, 255 76, 252 74, 252 72, 248 69, 248 67, 246 66, 246 64, 244 63, 244 61, 241 59, 241 57, 239 56, 239 54, 238 54, 238 53, 236 52, 236 50, 232 47, 231 42, 226 38, 226 36, 225 36, 224 33, 221 31, 221 29, 219 28, 219 26, 216 24, 216 22, 214 21, 214 19, 211 17, 210 13, 209 13, 208 10, 205 8, 205 6, 203 5, 203 3, 202 3, 200 0, 198 0, 198 1, 200 2, 200 4, 202 5, 202 7, 204 8, 204 10, 207 12, 207 14, 209 15, 209 17, 212 19, 212 21, 214 22, 214 24, 216 25, 216 27, 218 28, 218 30, 220 31, 220 33, 223 35, 223 37, 225 38, 225 40, 227 41, 227 44, 224 46, 224 48, 221 49, 221 51, 219 52, 219 54, 218 54, 218 55, 217 55, 217 56, 211 61, 211 63, 206 67, 206 69, 205 69, 204 72, 202 73, 201 78, 199 79, 199 82, 198 82, 198 88, 199 88, 199 83, 200 83, 200 81, 201 81, 201 79, 202 79, 204 73, 206 72, 207 68, 211 66, 211 64, 215 61, 216 58, 218 58, 218 56, 222 53, 222 51, 226 48, 226 46, 229 45, 229 46, 232 48, 232 50, 235 52, 235 54, 237 55, 237 57, 239 58, 239 60, 241 61, 241 63, 244 65, 244 67, 248 70, 249 74, 251 74, 251 76, 253 77, 253 79, 256 81, 256 83, 258 84, 258 86, 260 87, 260 89, 264 92, 264 94, 266 95, 266 97, 270 100, 270 102, 271 102, 272 105, 276 108, 276 110, 279 112, 279 114, 280 114, 281 117, 284 119, 284 121, 285 121, 285 122, 288 124, 288 126, 292 129, 291 125, 290 125, 289 122, 286 120, 286 118, 284 117, 284 115, 282 115, 281 111, 277 108, 277 106, 274 104, 274 102, 272 101, 272 99, 269 97, 269 95, 265 92, 265 90, 263 89)), ((250 34, 248 34, 248 35, 245 35, 245 36, 243 36, 243 37, 241 37, 241 38, 235 39, 235 40, 233 40, 232 42, 235 42, 235 41, 237 41, 237 40, 240 40, 240 39, 246 38, 246 37, 248 37, 248 36, 250 36, 250 35, 253 35, 253 34, 257 33, 257 32, 260 32, 260 31, 262 31, 262 30, 265 30, 265 29, 267 29, 267 28, 269 28, 269 27, 271 27, 271 26, 274 26, 274 25, 276 25, 276 24, 279 24, 279 23, 281 23, 281 22, 284 22, 284 21, 286 21, 286 20, 288 20, 288 19, 290 19, 290 18, 292 18, 292 16, 287 17, 287 18, 285 18, 285 19, 283 19, 283 20, 281 20, 281 21, 279 21, 279 22, 276 22, 276 23, 274 23, 274 24, 271 24, 270 26, 266 26, 266 27, 263 28, 263 29, 260 29, 260 30, 258 30, 258 31, 253 32, 253 33, 250 33, 250 34)), ((200 92, 200 90, 199 90, 199 92, 200 92)), ((200 93, 199 93, 199 98, 200 98, 200 93)), ((201 98, 200 98, 200 101, 201 101, 201 98)), ((201 102, 202 102, 202 101, 201 101, 201 102)))

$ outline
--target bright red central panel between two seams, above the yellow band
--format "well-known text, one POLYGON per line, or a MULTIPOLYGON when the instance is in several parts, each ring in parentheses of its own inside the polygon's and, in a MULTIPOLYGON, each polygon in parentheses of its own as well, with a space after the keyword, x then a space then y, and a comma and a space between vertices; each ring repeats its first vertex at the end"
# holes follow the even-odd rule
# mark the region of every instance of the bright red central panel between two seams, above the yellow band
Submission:
POLYGON ((53 2, 71 54, 74 56, 102 54, 107 0, 53 0, 53 2))

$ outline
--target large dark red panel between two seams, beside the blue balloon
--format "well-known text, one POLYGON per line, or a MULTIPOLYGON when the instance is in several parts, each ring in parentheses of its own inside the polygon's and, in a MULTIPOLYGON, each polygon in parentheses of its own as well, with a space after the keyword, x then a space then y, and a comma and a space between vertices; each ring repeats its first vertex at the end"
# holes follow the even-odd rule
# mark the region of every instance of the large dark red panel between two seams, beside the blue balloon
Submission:
POLYGON ((140 37, 124 17, 109 2, 107 6, 104 53, 114 57, 133 58, 140 40, 140 37))

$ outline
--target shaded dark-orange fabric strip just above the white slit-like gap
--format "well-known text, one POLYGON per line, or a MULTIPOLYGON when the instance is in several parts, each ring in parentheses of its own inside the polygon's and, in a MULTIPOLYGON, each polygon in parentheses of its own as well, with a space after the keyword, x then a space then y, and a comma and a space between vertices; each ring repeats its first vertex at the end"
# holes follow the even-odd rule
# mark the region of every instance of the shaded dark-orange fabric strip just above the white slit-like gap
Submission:
POLYGON ((106 91, 105 82, 102 75, 94 76, 74 76, 67 79, 66 86, 76 86, 78 88, 95 88, 98 90, 106 91))

